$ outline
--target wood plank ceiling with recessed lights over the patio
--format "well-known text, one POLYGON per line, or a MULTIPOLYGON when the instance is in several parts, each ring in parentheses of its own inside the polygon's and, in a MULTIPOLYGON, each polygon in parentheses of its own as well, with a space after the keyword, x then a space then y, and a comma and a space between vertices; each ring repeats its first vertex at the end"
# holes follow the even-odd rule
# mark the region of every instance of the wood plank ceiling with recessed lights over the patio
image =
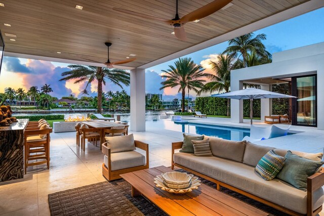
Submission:
MULTIPOLYGON (((212 1, 179 0, 179 15, 212 1)), ((233 0, 231 7, 198 23, 187 23, 187 41, 176 39, 168 25, 112 10, 117 7, 173 19, 175 0, 0 0, 5 4, 0 7, 0 28, 6 52, 105 62, 104 42, 110 41, 111 61, 136 54, 137 60, 125 66, 139 67, 307 1, 233 0), (75 9, 76 5, 83 10, 75 9), (5 33, 16 34, 16 41, 5 33)))

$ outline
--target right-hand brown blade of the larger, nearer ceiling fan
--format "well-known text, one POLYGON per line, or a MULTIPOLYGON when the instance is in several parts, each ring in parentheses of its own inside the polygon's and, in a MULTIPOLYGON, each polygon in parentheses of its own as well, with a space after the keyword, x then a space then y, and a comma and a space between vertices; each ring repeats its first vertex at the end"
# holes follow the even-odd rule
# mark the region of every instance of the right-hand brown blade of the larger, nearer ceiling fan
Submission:
POLYGON ((221 8, 225 7, 228 3, 232 2, 232 0, 216 0, 211 2, 193 12, 182 17, 181 23, 195 21, 204 17, 207 17, 216 11, 220 10, 221 8))

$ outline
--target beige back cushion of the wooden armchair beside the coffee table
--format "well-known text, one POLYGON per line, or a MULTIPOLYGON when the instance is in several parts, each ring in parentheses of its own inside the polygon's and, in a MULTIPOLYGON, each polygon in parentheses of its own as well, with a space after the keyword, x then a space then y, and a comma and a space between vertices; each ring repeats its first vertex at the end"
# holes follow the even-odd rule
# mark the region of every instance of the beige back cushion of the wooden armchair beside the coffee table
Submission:
POLYGON ((105 137, 105 139, 111 153, 133 151, 136 149, 133 134, 127 136, 105 137))

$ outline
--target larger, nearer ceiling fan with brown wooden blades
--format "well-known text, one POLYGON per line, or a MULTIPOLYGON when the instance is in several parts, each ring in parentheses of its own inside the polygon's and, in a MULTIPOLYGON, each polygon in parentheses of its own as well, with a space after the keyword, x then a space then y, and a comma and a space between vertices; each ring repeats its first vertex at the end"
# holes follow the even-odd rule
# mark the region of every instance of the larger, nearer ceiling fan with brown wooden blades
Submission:
POLYGON ((165 24, 168 24, 168 25, 174 27, 174 33, 178 39, 186 40, 187 36, 186 36, 186 32, 185 32, 183 26, 187 22, 191 22, 191 21, 195 21, 195 20, 207 17, 207 16, 215 13, 216 11, 220 10, 221 8, 225 7, 231 1, 232 0, 216 0, 216 1, 213 1, 205 6, 201 7, 201 8, 198 8, 195 11, 190 12, 189 14, 183 16, 182 18, 179 18, 178 0, 177 0, 176 16, 172 20, 167 20, 167 19, 163 19, 163 18, 159 18, 159 17, 153 17, 150 15, 140 14, 140 13, 137 13, 134 11, 129 11, 129 10, 120 9, 120 8, 112 8, 112 9, 115 11, 126 13, 126 14, 142 17, 142 18, 145 18, 148 20, 156 20, 156 21, 164 22, 165 24))

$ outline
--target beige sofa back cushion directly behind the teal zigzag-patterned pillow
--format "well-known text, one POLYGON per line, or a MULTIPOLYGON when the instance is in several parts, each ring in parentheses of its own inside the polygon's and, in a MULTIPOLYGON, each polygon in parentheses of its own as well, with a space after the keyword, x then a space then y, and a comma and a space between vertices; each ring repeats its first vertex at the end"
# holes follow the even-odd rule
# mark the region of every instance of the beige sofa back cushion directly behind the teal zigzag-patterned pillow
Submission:
POLYGON ((243 163, 256 167, 261 158, 273 149, 269 146, 256 145, 248 141, 245 147, 243 163))

